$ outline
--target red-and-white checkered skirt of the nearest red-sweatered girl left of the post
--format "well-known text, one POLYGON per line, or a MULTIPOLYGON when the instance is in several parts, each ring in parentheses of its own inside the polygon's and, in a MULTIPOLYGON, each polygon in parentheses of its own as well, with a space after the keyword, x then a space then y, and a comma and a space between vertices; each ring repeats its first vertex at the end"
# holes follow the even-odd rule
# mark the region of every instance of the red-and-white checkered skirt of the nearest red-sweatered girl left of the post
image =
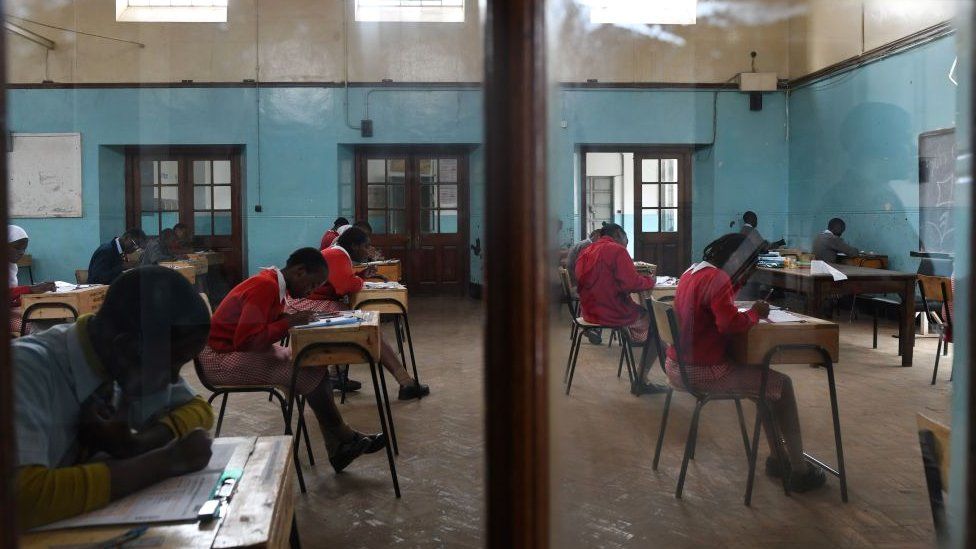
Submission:
MULTIPOLYGON (((291 384, 291 350, 281 345, 272 345, 263 352, 233 353, 218 353, 208 345, 199 358, 207 383, 215 387, 275 386, 287 389, 291 384)), ((302 368, 298 372, 298 394, 311 393, 327 375, 325 368, 302 368)))

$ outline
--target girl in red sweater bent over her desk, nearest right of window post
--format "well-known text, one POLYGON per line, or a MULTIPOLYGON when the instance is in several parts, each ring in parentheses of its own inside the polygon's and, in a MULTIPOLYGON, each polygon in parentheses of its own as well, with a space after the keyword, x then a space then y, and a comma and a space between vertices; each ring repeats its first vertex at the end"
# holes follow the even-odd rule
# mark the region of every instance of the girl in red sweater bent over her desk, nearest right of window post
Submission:
MULTIPOLYGON (((757 301, 748 311, 740 312, 735 294, 756 269, 756 258, 762 242, 742 234, 727 234, 705 247, 703 261, 692 265, 678 281, 674 311, 678 317, 679 341, 688 377, 694 389, 708 392, 735 391, 751 398, 759 396, 761 369, 729 362, 727 348, 730 334, 741 333, 769 316, 769 304, 757 301)), ((681 372, 674 348, 668 349, 665 370, 672 385, 682 386, 681 372)), ((826 482, 819 467, 809 465, 803 457, 796 395, 789 376, 770 370, 766 399, 773 415, 773 425, 765 425, 770 456, 766 473, 782 476, 789 471, 792 489, 806 492, 826 482), (789 468, 776 456, 779 440, 785 439, 789 468)))

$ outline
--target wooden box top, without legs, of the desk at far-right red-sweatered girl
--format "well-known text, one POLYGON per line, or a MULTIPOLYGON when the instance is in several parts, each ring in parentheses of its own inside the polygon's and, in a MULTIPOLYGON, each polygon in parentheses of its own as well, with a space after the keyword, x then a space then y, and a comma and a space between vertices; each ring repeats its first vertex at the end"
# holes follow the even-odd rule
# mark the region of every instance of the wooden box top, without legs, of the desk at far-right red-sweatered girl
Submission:
MULTIPOLYGON (((729 345, 729 356, 736 364, 762 365, 766 353, 777 345, 809 344, 823 347, 830 359, 837 362, 840 351, 840 328, 836 322, 791 313, 804 322, 760 322, 748 332, 736 334, 729 345)), ((815 364, 822 360, 818 353, 795 351, 778 353, 772 364, 815 364)))

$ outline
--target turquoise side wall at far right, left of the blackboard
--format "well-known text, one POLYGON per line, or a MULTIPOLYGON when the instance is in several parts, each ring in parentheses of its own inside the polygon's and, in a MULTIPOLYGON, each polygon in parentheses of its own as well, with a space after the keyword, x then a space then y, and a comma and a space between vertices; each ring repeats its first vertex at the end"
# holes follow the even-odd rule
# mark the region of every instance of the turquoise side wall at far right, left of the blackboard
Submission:
POLYGON ((845 238, 917 269, 918 136, 951 128, 955 37, 918 47, 790 96, 789 235, 808 246, 831 217, 845 238))

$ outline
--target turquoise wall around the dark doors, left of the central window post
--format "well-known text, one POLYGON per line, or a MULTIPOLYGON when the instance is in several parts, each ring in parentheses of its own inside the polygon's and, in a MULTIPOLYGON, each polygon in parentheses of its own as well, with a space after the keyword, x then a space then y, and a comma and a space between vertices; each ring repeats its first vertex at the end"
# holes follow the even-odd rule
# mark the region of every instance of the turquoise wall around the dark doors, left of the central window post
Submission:
MULTIPOLYGON (((341 88, 9 90, 11 131, 82 134, 83 217, 14 220, 31 235, 35 278, 73 280, 98 244, 122 229, 125 145, 244 145, 244 244, 253 273, 318 243, 340 212, 339 181, 351 181, 355 145, 480 142, 480 91, 386 91, 370 96, 375 133, 364 139, 346 126, 341 88)), ((350 90, 354 112, 368 92, 350 90)), ((482 163, 476 150, 472 243, 481 237, 482 163)), ((472 259, 472 280, 481 280, 480 258, 472 259)))

